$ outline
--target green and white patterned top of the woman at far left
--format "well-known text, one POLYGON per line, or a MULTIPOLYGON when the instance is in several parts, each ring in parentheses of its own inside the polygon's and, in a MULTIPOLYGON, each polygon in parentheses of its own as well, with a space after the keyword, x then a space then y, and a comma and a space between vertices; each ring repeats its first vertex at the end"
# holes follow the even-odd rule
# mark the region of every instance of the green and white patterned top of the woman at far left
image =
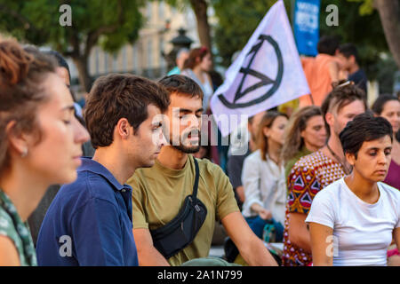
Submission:
POLYGON ((36 266, 35 247, 28 223, 23 223, 10 198, 0 189, 0 235, 10 238, 20 256, 20 265, 36 266))

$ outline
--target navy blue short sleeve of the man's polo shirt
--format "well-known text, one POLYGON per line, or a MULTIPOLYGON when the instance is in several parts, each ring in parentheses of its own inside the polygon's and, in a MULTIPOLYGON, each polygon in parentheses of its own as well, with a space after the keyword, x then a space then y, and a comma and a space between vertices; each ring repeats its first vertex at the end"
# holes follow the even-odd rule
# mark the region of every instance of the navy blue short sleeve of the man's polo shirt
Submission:
POLYGON ((71 217, 72 241, 80 265, 124 265, 120 220, 116 206, 92 198, 71 217))

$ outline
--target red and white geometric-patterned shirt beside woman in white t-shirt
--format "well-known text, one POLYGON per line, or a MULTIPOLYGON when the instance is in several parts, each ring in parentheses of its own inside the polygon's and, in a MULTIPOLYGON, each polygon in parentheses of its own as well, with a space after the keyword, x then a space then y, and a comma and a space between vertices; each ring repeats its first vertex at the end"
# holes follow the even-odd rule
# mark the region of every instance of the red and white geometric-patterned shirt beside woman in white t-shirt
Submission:
POLYGON ((289 196, 284 220, 284 266, 302 266, 312 262, 310 253, 289 241, 289 213, 307 216, 316 193, 344 176, 340 163, 332 161, 322 151, 308 154, 294 164, 287 179, 289 196))

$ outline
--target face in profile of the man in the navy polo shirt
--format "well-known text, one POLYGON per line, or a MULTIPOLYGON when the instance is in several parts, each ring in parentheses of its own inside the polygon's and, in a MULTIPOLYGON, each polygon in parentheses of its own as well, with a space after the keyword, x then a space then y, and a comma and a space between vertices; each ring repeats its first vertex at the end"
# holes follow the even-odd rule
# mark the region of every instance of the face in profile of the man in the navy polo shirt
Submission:
POLYGON ((148 105, 148 118, 141 122, 139 128, 132 135, 130 146, 134 153, 137 168, 152 167, 161 147, 165 145, 163 134, 163 117, 160 109, 148 105))

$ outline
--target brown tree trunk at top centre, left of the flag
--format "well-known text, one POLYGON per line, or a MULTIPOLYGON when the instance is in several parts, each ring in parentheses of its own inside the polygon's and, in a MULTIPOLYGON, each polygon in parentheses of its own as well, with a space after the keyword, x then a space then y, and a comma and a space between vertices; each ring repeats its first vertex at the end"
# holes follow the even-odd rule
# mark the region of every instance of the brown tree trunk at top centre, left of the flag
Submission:
POLYGON ((190 4, 196 15, 200 43, 211 51, 211 28, 207 17, 207 2, 206 0, 190 0, 190 4))

